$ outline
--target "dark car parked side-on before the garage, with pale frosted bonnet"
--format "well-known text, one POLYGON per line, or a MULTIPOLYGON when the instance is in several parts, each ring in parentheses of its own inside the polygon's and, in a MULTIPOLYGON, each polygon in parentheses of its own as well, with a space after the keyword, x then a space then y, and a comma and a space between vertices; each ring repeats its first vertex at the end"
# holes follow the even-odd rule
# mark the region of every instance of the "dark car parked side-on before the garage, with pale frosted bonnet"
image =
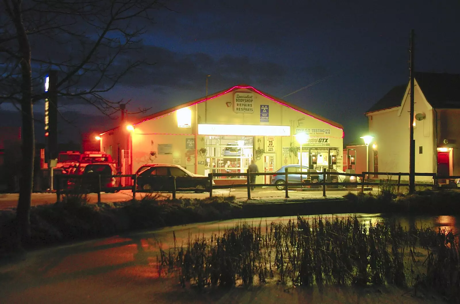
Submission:
POLYGON ((207 176, 194 174, 179 165, 155 164, 138 174, 138 189, 173 191, 173 176, 176 177, 177 191, 194 188, 195 192, 204 192, 210 186, 207 176))

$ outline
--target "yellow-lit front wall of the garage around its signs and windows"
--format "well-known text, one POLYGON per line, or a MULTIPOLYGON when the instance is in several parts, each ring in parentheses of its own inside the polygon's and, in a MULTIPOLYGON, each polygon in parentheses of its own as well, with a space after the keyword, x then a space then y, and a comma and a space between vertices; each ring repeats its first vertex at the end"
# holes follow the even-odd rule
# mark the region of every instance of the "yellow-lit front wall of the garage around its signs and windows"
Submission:
MULTIPOLYGON (((178 164, 186 167, 191 172, 195 172, 195 166, 188 165, 187 157, 195 156, 195 149, 186 148, 187 138, 195 138, 196 122, 199 124, 229 124, 229 125, 276 125, 276 126, 290 126, 291 134, 293 135, 298 128, 304 129, 319 129, 320 132, 311 134, 311 138, 318 140, 319 138, 328 138, 328 143, 331 147, 338 148, 338 163, 337 167, 342 168, 341 151, 343 149, 342 129, 331 126, 326 122, 317 120, 313 117, 300 113, 287 106, 276 103, 269 98, 259 95, 247 89, 241 89, 237 92, 247 92, 254 94, 253 113, 242 114, 235 113, 233 109, 235 91, 226 93, 212 100, 190 106, 192 113, 192 127, 179 128, 177 123, 177 112, 172 112, 156 119, 144 121, 135 126, 135 131, 132 135, 132 169, 136 171, 139 166, 145 163, 172 163, 174 159, 178 164), (230 103, 230 106, 228 106, 230 103), (269 122, 260 121, 260 105, 269 106, 269 122), (326 134, 327 133, 327 134, 326 134), (152 157, 150 151, 158 153, 158 144, 171 144, 172 155, 157 155, 152 157)), ((315 130, 318 131, 318 130, 315 130)), ((108 143, 110 139, 115 136, 104 135, 104 143, 108 143)), ((283 166, 282 147, 289 147, 291 143, 295 143, 293 136, 277 137, 275 141, 276 160, 275 170, 283 166)), ((317 143, 316 143, 317 144, 317 143)), ((258 147, 265 149, 265 137, 254 137, 254 149, 258 147)), ((116 146, 116 145, 115 145, 116 146)), ((312 146, 306 144, 305 146, 312 146)), ((204 136, 196 136, 197 149, 204 148, 204 136)), ((204 161, 204 158, 198 156, 198 161, 204 161)), ((289 163, 297 163, 297 158, 289 158, 289 163)), ((263 160, 256 162, 259 171, 263 170, 263 160)), ((203 174, 205 170, 204 165, 197 165, 197 173, 203 174)), ((262 177, 259 177, 257 183, 262 183, 262 177)))

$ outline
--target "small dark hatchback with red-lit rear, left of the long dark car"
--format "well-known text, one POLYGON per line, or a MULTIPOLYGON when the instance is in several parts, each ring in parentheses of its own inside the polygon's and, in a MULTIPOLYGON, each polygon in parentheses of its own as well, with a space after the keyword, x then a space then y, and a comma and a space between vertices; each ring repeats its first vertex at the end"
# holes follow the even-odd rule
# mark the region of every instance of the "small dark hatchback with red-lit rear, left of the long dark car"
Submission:
POLYGON ((79 178, 73 178, 69 181, 69 186, 80 186, 86 192, 99 191, 99 175, 101 176, 101 190, 103 192, 118 192, 113 188, 118 187, 120 184, 119 178, 112 177, 113 175, 120 174, 116 171, 115 165, 108 163, 94 163, 85 166, 83 173, 79 178))

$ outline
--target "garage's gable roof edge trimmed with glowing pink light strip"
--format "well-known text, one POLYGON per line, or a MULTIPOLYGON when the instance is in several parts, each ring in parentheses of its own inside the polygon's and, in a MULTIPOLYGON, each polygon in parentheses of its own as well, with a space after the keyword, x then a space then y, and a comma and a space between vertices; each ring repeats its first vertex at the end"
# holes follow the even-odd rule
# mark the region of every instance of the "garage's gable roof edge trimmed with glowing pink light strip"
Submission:
MULTIPOLYGON (((333 127, 336 127, 336 128, 338 128, 338 129, 343 130, 343 126, 340 125, 340 124, 337 123, 337 122, 334 122, 334 121, 332 121, 332 120, 328 120, 327 118, 324 118, 324 117, 322 117, 322 116, 320 116, 320 115, 316 115, 316 114, 314 114, 314 113, 311 113, 310 111, 307 111, 307 110, 305 110, 305 109, 302 109, 302 108, 300 108, 300 107, 298 107, 298 106, 296 106, 296 105, 293 105, 293 104, 291 104, 291 103, 288 103, 288 102, 286 102, 286 101, 284 101, 284 100, 282 100, 282 99, 273 97, 273 96, 271 96, 271 95, 269 95, 269 94, 267 94, 267 93, 264 93, 264 92, 262 92, 262 91, 257 90, 257 89, 254 88, 253 86, 248 86, 248 85, 245 85, 245 84, 233 86, 233 87, 231 87, 231 88, 222 90, 222 91, 220 91, 220 92, 216 92, 216 93, 214 93, 214 94, 208 95, 207 97, 198 98, 198 99, 189 101, 189 102, 187 102, 187 103, 183 103, 183 104, 181 104, 181 105, 175 106, 175 107, 173 107, 173 108, 169 108, 169 109, 166 109, 166 110, 163 110, 163 111, 160 111, 160 112, 157 112, 157 113, 154 113, 154 114, 145 116, 144 118, 142 118, 141 121, 139 121, 139 122, 137 122, 137 123, 135 123, 135 124, 133 124, 133 125, 135 126, 135 125, 138 125, 138 124, 140 124, 140 123, 142 123, 142 122, 144 122, 144 121, 147 121, 147 120, 152 120, 152 119, 161 118, 161 117, 163 117, 164 115, 168 115, 168 114, 170 114, 171 112, 174 112, 174 111, 176 111, 176 110, 178 110, 178 109, 182 109, 182 108, 185 108, 185 107, 190 107, 190 106, 192 106, 192 105, 195 105, 195 104, 198 104, 198 103, 202 103, 202 102, 205 102, 205 101, 207 101, 207 100, 212 100, 212 99, 217 98, 217 97, 219 97, 219 96, 222 96, 222 95, 224 95, 224 94, 226 94, 226 93, 229 93, 229 92, 232 92, 232 91, 236 91, 236 90, 239 90, 239 89, 248 89, 249 91, 252 91, 252 92, 255 92, 255 93, 258 93, 258 94, 264 96, 265 98, 271 99, 271 100, 274 101, 275 103, 282 104, 282 105, 284 105, 284 106, 286 106, 286 107, 288 107, 288 108, 290 108, 290 109, 293 109, 294 111, 297 111, 297 112, 300 112, 300 113, 302 113, 302 114, 308 115, 308 116, 310 116, 310 117, 312 117, 312 118, 314 118, 314 119, 316 119, 316 120, 321 120, 322 122, 325 122, 325 123, 327 123, 327 124, 330 125, 330 126, 333 126, 333 127)), ((117 128, 118 128, 118 127, 115 127, 115 128, 113 128, 113 129, 110 129, 110 130, 108 130, 108 131, 105 131, 105 132, 103 132, 103 133, 101 133, 101 134, 99 134, 99 135, 104 135, 105 133, 110 132, 110 131, 112 131, 112 130, 115 130, 115 129, 117 129, 117 128)))

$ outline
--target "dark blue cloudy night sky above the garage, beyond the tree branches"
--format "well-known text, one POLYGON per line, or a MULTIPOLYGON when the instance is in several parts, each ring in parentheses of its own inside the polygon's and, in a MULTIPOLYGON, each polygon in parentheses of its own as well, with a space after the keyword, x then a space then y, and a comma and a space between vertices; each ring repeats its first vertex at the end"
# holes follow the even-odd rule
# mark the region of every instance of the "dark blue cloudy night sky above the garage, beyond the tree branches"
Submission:
POLYGON ((339 122, 351 143, 366 132, 363 113, 408 82, 410 29, 417 71, 460 73, 458 0, 185 0, 168 7, 144 35, 140 55, 156 64, 106 95, 132 99, 132 110, 152 107, 150 114, 203 97, 209 74, 209 93, 254 86, 339 122))

